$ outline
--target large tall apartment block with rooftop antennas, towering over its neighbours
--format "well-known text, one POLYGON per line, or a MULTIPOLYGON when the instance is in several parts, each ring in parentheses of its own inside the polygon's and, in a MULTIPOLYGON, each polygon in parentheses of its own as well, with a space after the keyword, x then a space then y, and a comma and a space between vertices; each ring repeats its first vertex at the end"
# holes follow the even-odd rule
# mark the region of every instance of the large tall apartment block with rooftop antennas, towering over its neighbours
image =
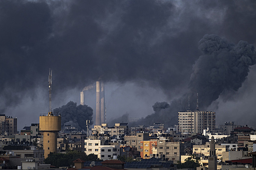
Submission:
POLYGON ((179 132, 182 134, 203 133, 204 129, 215 130, 215 112, 185 111, 178 112, 179 132))

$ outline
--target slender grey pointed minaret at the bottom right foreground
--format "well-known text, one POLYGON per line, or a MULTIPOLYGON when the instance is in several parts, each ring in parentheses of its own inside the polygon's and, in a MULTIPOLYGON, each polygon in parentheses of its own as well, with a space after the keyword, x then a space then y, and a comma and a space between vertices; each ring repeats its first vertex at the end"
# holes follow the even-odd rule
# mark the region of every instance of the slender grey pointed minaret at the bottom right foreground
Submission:
POLYGON ((217 157, 215 150, 215 141, 213 136, 210 140, 210 155, 208 157, 208 169, 217 170, 217 157))

